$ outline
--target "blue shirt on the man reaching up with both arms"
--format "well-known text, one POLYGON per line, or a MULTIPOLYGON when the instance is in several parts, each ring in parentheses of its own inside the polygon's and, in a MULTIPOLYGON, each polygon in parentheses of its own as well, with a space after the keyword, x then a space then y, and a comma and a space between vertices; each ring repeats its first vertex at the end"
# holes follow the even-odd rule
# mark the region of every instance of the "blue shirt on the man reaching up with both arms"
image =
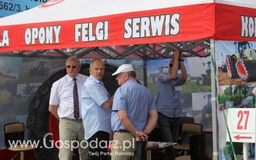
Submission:
POLYGON ((175 86, 180 86, 184 83, 180 82, 181 76, 167 82, 169 72, 163 72, 157 78, 157 111, 167 117, 176 118, 182 117, 182 108, 180 102, 180 93, 175 91, 175 86))

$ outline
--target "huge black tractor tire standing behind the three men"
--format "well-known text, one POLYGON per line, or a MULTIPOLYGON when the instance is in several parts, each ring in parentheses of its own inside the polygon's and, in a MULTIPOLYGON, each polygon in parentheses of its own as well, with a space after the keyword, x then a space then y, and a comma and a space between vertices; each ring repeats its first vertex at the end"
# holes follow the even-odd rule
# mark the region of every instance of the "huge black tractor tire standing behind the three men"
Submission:
MULTIPOLYGON (((111 74, 117 70, 115 66, 105 67, 105 74, 102 79, 104 86, 110 95, 114 95, 119 85, 111 74)), ((89 76, 89 64, 81 66, 80 73, 89 76)), ((34 155, 37 160, 59 160, 59 151, 57 148, 45 148, 43 144, 43 137, 49 133, 49 118, 50 112, 48 111, 50 92, 52 84, 66 75, 66 70, 60 70, 50 76, 42 85, 37 89, 29 105, 29 114, 27 118, 28 139, 31 141, 39 141, 39 146, 34 150, 34 155), (41 147, 42 146, 42 147, 41 147)), ((46 136, 46 146, 51 146, 51 136, 46 136)))

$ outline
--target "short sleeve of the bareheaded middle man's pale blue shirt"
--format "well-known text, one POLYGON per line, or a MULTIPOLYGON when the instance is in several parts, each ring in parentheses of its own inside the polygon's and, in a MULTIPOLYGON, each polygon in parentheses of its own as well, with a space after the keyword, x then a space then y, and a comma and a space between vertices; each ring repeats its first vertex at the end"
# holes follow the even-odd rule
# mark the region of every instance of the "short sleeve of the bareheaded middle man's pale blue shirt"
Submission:
POLYGON ((108 100, 107 94, 104 91, 104 88, 101 86, 92 84, 87 87, 87 92, 89 96, 97 103, 98 106, 101 106, 105 101, 108 100))

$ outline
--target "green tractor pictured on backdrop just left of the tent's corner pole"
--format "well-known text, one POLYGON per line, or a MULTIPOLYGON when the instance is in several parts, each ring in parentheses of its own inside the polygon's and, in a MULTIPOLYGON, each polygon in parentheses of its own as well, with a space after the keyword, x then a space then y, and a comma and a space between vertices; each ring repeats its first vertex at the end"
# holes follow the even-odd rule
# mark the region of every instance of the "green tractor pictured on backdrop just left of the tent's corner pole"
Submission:
POLYGON ((203 66, 207 66, 207 70, 205 71, 205 74, 201 74, 202 77, 198 77, 196 79, 196 84, 197 85, 211 85, 211 62, 208 61, 207 63, 202 63, 203 66))

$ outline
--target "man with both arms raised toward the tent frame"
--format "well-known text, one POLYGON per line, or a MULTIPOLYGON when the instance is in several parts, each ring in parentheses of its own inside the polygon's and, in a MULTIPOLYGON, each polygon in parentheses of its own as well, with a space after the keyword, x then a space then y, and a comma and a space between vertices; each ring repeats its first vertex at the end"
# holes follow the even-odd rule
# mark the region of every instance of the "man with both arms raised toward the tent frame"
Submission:
POLYGON ((157 78, 156 106, 159 115, 157 124, 164 142, 178 142, 179 117, 182 117, 179 90, 186 79, 187 72, 183 54, 174 51, 174 58, 169 64, 169 72, 160 73, 157 78), (178 76, 179 69, 181 76, 178 76))

